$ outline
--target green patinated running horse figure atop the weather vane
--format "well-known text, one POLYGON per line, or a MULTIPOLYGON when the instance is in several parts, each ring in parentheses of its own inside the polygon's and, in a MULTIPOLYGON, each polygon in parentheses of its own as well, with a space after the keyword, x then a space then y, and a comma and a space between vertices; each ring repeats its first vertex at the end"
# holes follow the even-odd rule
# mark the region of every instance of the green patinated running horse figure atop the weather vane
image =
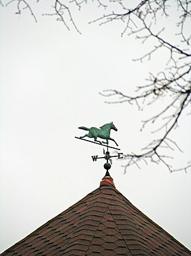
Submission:
MULTIPOLYGON (((113 122, 109 124, 104 124, 100 128, 96 128, 96 127, 86 128, 84 126, 80 126, 78 128, 89 131, 88 134, 85 134, 84 136, 80 137, 80 139, 84 137, 89 137, 89 138, 94 138, 94 141, 97 141, 97 138, 101 138, 101 139, 106 139, 106 142, 103 141, 103 143, 108 144, 108 140, 114 141, 116 143, 116 141, 110 137, 111 129, 116 130, 116 132, 118 130, 116 126, 114 126, 113 122)), ((102 144, 101 141, 98 141, 98 142, 102 144)), ((116 145, 118 146, 118 143, 116 143, 116 145)))

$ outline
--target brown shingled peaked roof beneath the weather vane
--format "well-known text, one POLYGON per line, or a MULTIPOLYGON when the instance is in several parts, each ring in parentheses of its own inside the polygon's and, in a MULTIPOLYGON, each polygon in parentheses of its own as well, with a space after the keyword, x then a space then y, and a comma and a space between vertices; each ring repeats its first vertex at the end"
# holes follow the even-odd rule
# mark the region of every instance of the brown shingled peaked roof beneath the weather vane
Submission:
POLYGON ((191 255, 104 177, 101 186, 1 255, 191 255))

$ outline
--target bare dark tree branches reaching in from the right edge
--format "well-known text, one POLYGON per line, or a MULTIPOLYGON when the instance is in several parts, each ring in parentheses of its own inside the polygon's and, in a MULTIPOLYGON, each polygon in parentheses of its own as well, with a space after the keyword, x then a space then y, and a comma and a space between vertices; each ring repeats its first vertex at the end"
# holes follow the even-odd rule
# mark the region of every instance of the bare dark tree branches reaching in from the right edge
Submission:
MULTIPOLYGON (((118 100, 109 100, 107 103, 124 103, 137 104, 138 109, 142 109, 144 105, 152 106, 156 102, 164 99, 164 97, 169 98, 169 104, 162 104, 160 111, 156 115, 153 115, 149 119, 143 121, 143 128, 146 125, 150 124, 151 126, 160 120, 160 125, 154 130, 157 132, 163 132, 163 135, 159 135, 159 139, 151 141, 149 145, 142 149, 142 152, 139 154, 125 154, 127 160, 126 165, 124 165, 125 172, 126 168, 131 165, 139 166, 141 161, 147 163, 148 160, 159 164, 160 162, 164 164, 169 171, 187 171, 190 169, 190 162, 185 167, 175 169, 169 164, 168 159, 173 158, 172 156, 167 156, 162 154, 162 148, 174 150, 176 147, 180 152, 177 143, 169 138, 171 131, 177 128, 179 117, 188 108, 188 104, 191 102, 191 53, 190 53, 190 35, 186 36, 186 23, 191 17, 191 3, 188 1, 141 1, 142 5, 137 5, 137 8, 118 14, 112 12, 107 14, 107 16, 102 16, 101 18, 94 20, 99 21, 103 20, 101 24, 108 23, 110 21, 122 20, 126 22, 126 27, 122 32, 129 31, 128 35, 135 35, 135 38, 141 40, 142 43, 145 43, 150 38, 153 38, 156 41, 156 44, 153 48, 142 55, 141 57, 135 59, 135 61, 143 61, 145 58, 151 59, 151 56, 164 49, 169 53, 169 60, 167 61, 167 68, 158 72, 158 74, 151 74, 146 79, 149 81, 147 85, 141 85, 137 87, 135 96, 130 96, 124 94, 117 89, 107 89, 104 90, 101 95, 105 97, 114 97, 117 96, 118 100), (179 10, 179 21, 177 26, 179 27, 179 33, 177 36, 181 37, 179 39, 179 44, 168 42, 164 39, 163 32, 165 31, 164 27, 157 32, 154 32, 154 24, 158 21, 158 14, 164 15, 165 18, 169 17, 168 10, 170 3, 177 3, 177 8, 179 10), (139 7, 141 6, 141 8, 139 7), (154 23, 151 21, 154 19, 154 23), (126 21, 125 21, 126 20, 126 21), (133 22, 132 22, 133 20, 133 22), (187 45, 187 48, 185 48, 187 45)), ((127 10, 127 8, 124 8, 127 10)), ((167 56, 167 54, 166 54, 167 56)), ((158 124, 159 124, 158 123, 158 124)), ((159 134, 160 134, 159 133, 159 134)))

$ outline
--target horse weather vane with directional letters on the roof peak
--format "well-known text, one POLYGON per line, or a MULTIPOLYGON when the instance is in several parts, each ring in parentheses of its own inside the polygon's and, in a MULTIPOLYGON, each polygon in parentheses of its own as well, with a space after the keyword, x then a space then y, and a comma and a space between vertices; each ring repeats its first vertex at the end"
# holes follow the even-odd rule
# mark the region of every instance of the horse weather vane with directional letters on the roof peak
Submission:
MULTIPOLYGON (((111 122, 109 124, 104 124, 100 128, 96 128, 96 127, 86 128, 84 126, 80 126, 78 128, 81 129, 81 130, 88 130, 88 133, 85 134, 82 137, 75 137, 76 139, 82 139, 83 141, 88 141, 88 142, 91 142, 91 143, 95 143, 97 145, 101 145, 103 147, 107 147, 106 152, 103 149, 104 156, 101 156, 101 157, 92 156, 92 160, 97 161, 97 159, 104 158, 106 160, 106 162, 103 165, 103 167, 107 170, 105 176, 110 176, 109 175, 109 169, 111 168, 111 165, 112 165, 111 158, 113 158, 113 157, 123 158, 123 156, 122 156, 123 153, 118 153, 116 156, 110 156, 110 154, 109 154, 109 148, 113 148, 115 150, 120 150, 117 147, 109 146, 109 140, 114 141, 114 143, 116 143, 116 141, 110 137, 111 130, 113 129, 117 132, 118 129, 116 128, 116 126, 114 126, 113 122, 111 122), (84 139, 84 137, 93 138, 94 141, 89 141, 88 139, 84 139), (98 141, 97 138, 105 139, 106 141, 98 141)), ((116 143, 116 145, 118 146, 118 143, 116 143)))

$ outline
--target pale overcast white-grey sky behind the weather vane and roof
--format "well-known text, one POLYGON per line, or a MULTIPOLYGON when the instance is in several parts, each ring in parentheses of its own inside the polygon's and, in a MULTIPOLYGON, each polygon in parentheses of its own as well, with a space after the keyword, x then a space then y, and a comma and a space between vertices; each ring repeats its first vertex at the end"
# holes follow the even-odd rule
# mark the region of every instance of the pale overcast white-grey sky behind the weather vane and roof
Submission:
MULTIPOLYGON (((152 61, 133 61, 150 44, 121 37, 121 23, 89 25, 97 16, 90 5, 75 15, 82 35, 52 16, 37 13, 37 23, 27 12, 18 16, 14 5, 0 12, 1 253, 99 187, 104 160, 93 162, 91 156, 103 156, 103 148, 75 139, 84 135, 79 126, 114 122, 118 132, 111 130, 111 137, 123 153, 153 139, 152 127, 140 132, 141 120, 158 109, 106 104, 99 92, 133 94, 166 59, 158 53, 152 61)), ((189 160, 190 127, 185 115, 171 135, 184 150, 174 154, 177 167, 189 160)), ((113 160, 116 188, 191 249, 191 172, 169 173, 149 163, 129 167, 124 175, 124 164, 113 160)))

